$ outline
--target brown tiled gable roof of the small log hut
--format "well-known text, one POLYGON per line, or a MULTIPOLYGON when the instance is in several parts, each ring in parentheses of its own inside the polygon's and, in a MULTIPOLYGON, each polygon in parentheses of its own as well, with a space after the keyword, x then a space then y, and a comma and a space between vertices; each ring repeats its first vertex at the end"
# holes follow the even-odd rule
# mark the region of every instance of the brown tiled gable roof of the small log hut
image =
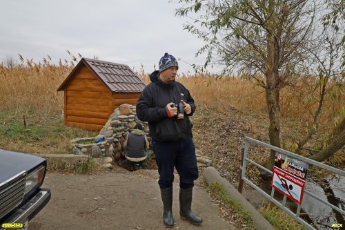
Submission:
POLYGON ((70 77, 81 64, 85 64, 113 93, 141 93, 146 86, 127 65, 83 57, 57 89, 58 91, 68 86, 70 77))

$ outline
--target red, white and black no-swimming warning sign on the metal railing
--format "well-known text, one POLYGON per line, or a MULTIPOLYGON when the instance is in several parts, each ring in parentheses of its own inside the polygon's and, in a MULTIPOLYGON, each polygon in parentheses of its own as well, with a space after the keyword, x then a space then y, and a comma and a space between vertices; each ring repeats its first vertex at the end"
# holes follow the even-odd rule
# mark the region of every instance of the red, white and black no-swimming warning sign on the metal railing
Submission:
POLYGON ((282 153, 275 154, 271 186, 291 200, 302 204, 308 164, 282 153))

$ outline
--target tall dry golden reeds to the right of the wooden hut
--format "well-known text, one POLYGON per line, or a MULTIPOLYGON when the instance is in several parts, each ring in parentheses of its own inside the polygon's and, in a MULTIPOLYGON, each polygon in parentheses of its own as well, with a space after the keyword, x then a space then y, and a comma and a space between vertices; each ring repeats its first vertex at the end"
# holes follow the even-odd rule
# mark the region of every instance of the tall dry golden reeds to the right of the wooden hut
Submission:
MULTIPOLYGON (((150 79, 143 72, 139 75, 148 84, 150 79)), ((207 74, 184 75, 178 81, 184 84, 193 95, 197 104, 204 108, 227 111, 230 106, 245 113, 267 113, 264 88, 239 79, 238 77, 210 77, 207 74)), ((282 118, 290 119, 292 124, 306 127, 313 122, 313 113, 317 110, 319 90, 313 90, 317 84, 312 77, 301 78, 297 84, 286 86, 280 93, 280 112, 282 118)), ((335 82, 330 82, 334 86, 335 82)), ((320 131, 328 132, 341 116, 345 114, 344 85, 338 87, 338 93, 328 94, 324 99, 322 113, 319 115, 320 131)), ((305 129, 301 130, 302 132, 305 129)))

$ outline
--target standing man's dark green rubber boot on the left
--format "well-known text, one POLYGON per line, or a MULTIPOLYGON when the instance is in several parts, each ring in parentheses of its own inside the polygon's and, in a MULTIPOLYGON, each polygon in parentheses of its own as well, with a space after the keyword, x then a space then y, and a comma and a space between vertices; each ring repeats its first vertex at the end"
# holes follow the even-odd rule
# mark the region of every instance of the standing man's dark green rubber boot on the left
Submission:
POLYGON ((174 218, 172 217, 172 187, 161 189, 161 201, 163 202, 163 222, 166 227, 174 227, 174 218))

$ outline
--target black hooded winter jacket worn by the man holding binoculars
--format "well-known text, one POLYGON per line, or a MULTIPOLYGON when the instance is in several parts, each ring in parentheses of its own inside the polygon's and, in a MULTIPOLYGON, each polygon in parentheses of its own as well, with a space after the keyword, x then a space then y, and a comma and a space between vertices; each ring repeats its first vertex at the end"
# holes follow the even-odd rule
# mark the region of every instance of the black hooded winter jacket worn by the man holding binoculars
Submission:
POLYGON ((151 83, 141 93, 137 102, 137 117, 148 122, 150 137, 158 141, 178 141, 193 138, 192 123, 188 116, 195 112, 194 99, 188 89, 179 82, 166 84, 159 79, 159 71, 150 75, 151 83), (181 99, 190 104, 192 113, 177 122, 175 117, 168 117, 166 105, 170 102, 179 104, 181 99))

